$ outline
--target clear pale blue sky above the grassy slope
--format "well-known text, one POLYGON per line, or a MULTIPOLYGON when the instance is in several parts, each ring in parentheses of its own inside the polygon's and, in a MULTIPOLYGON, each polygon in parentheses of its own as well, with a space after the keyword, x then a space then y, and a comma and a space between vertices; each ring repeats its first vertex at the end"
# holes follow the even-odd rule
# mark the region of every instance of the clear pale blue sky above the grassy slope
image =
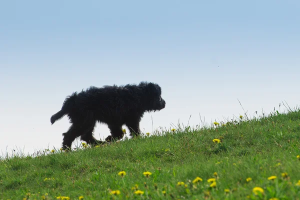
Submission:
POLYGON ((294 107, 299 10, 299 0, 2 0, 0 149, 59 148, 69 122, 50 116, 90 85, 160 84, 166 107, 144 115, 149 132, 151 117, 155 129, 238 116, 237 98, 250 115, 294 107))

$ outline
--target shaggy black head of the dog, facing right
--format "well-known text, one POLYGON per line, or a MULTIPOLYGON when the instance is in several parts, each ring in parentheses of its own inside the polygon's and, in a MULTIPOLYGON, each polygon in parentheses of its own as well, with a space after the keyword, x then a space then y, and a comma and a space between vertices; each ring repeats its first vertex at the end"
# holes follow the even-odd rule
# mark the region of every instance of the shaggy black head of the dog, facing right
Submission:
POLYGON ((165 101, 161 97, 161 87, 158 84, 152 82, 140 82, 139 86, 146 94, 146 110, 156 111, 165 107, 165 101))

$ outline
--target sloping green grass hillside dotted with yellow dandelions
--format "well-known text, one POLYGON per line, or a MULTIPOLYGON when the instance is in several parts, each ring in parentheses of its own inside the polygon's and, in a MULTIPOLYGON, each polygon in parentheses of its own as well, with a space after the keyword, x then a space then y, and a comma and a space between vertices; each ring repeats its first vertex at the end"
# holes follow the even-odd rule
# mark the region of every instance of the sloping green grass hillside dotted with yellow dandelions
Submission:
POLYGON ((299 199, 299 110, 244 118, 225 126, 178 125, 175 131, 72 152, 2 158, 0 199, 299 199), (144 171, 152 174, 147 178, 144 171), (214 172, 216 187, 210 187, 214 172), (277 178, 268 180, 272 175, 277 178), (202 181, 193 184, 197 176, 202 181), (177 185, 181 181, 185 185, 177 185), (134 194, 134 185, 144 193, 134 194), (264 192, 255 195, 256 186, 264 192))

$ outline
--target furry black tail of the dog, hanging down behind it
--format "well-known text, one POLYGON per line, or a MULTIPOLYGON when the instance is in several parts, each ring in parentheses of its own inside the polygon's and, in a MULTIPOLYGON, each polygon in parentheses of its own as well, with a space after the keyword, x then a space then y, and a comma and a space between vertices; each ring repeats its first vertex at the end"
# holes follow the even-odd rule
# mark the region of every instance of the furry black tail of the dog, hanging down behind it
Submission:
POLYGON ((50 118, 51 124, 53 124, 56 120, 60 119, 61 117, 69 113, 69 111, 74 106, 76 97, 77 97, 77 93, 73 92, 71 95, 67 96, 64 99, 61 109, 51 116, 50 118))

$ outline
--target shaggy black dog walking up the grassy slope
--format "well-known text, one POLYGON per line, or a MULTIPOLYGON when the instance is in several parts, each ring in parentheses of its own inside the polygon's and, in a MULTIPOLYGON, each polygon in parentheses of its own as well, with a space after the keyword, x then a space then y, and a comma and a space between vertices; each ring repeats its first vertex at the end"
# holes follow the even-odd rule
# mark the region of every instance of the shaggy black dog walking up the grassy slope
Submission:
POLYGON ((152 82, 126 84, 124 86, 104 85, 101 88, 90 86, 85 91, 73 92, 67 96, 61 110, 50 118, 51 124, 64 115, 72 123, 67 132, 62 133, 62 148, 70 148, 73 140, 80 136, 89 144, 104 143, 93 137, 97 121, 106 123, 111 135, 106 141, 123 137, 125 124, 130 135, 140 135, 139 122, 145 111, 156 111, 165 107, 161 98, 161 88, 152 82))

